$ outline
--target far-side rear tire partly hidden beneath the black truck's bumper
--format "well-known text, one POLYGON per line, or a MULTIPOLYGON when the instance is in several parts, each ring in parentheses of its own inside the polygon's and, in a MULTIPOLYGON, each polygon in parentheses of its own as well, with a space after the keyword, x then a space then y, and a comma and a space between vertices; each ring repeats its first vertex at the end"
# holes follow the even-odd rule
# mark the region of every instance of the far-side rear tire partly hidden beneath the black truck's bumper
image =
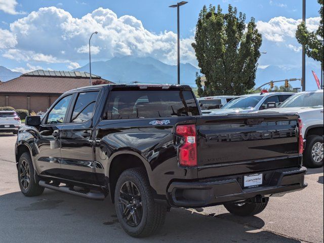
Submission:
POLYGON ((238 205, 237 203, 226 203, 224 207, 228 212, 238 216, 253 216, 260 214, 268 205, 268 199, 265 203, 246 203, 243 205, 238 205))

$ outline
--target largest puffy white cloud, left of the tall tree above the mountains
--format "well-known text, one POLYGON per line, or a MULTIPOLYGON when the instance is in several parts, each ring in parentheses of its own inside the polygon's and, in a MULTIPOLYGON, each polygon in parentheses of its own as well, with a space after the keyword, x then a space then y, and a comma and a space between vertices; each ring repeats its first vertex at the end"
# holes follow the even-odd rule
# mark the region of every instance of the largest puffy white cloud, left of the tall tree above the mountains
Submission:
MULTIPOLYGON (((90 34, 94 31, 99 33, 91 39, 91 51, 97 54, 98 60, 134 55, 152 56, 169 64, 177 61, 176 33, 150 32, 135 17, 124 15, 118 18, 109 9, 99 8, 81 18, 74 18, 63 9, 41 8, 11 23, 10 29, 18 41, 15 49, 32 51, 32 59, 37 61, 60 62, 67 56, 70 60, 84 59, 90 34), (44 56, 37 58, 35 54, 38 53, 44 56)), ((193 36, 181 40, 181 61, 195 65, 193 41, 193 36)))

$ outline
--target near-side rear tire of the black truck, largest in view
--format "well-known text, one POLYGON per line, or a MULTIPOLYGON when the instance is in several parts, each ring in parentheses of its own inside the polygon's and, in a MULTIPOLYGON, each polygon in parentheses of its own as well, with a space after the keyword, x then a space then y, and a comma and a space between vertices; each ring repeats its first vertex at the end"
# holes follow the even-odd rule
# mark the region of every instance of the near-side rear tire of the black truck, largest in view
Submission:
POLYGON ((129 235, 149 236, 164 224, 167 207, 155 203, 143 169, 133 168, 121 173, 116 183, 114 199, 119 223, 129 235), (128 193, 129 191, 132 193, 128 193))

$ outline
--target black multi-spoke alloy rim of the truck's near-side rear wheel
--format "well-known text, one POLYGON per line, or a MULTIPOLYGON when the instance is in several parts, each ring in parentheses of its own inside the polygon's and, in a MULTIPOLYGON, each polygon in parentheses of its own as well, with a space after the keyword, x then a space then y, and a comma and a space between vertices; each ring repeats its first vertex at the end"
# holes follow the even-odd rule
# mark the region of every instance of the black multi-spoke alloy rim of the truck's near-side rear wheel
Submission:
POLYGON ((143 217, 143 202, 138 187, 126 181, 119 190, 119 210, 125 222, 132 227, 140 224, 143 217))

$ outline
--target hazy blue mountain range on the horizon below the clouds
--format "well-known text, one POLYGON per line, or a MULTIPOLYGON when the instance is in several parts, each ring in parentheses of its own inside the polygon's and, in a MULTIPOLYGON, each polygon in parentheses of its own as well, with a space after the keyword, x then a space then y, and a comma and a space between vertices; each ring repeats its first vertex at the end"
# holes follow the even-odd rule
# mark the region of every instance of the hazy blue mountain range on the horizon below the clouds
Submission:
MULTIPOLYGON (((92 73, 99 75, 116 84, 141 82, 148 84, 176 84, 177 66, 168 65, 152 57, 114 57, 108 61, 97 61, 91 63, 92 73)), ((76 71, 89 72, 89 63, 75 69, 76 71)), ((306 65, 307 90, 315 90, 316 84, 311 73, 312 67, 306 65)), ((181 64, 181 84, 195 85, 195 74, 199 69, 189 63, 181 64)), ((320 71, 314 70, 320 77, 320 71)), ((6 82, 20 76, 20 72, 13 72, 8 68, 0 66, 0 80, 6 82)), ((300 78, 301 68, 285 69, 279 66, 270 65, 265 68, 258 68, 256 74, 256 87, 269 82, 286 78, 300 78)), ((284 83, 278 83, 278 86, 284 83)), ((293 87, 300 87, 300 82, 291 82, 293 87)), ((266 86, 265 88, 268 88, 266 86)))

